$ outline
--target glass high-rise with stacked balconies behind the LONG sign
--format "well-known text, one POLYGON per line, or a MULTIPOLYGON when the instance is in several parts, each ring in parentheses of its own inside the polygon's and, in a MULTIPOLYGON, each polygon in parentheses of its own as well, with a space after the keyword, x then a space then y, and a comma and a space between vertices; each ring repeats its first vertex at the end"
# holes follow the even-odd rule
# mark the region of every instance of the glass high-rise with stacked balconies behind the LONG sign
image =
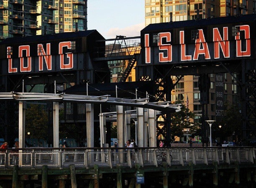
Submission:
POLYGON ((87 30, 87 0, 0 0, 0 40, 87 30))

